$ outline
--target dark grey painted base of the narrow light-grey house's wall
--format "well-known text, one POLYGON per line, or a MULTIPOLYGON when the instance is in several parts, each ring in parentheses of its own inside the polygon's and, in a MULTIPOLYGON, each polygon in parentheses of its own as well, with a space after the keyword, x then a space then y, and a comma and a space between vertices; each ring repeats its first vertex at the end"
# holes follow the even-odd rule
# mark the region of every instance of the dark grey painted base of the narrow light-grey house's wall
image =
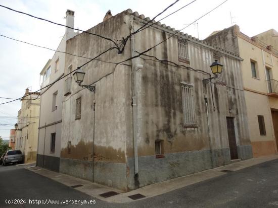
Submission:
POLYGON ((37 166, 59 172, 60 158, 37 154, 37 166))

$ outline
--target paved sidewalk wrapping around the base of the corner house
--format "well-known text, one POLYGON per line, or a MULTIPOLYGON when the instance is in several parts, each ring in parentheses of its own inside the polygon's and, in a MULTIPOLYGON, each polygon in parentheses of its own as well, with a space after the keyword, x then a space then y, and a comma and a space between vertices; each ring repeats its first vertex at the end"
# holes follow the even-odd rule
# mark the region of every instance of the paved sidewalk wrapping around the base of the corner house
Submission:
MULTIPOLYGON (((227 174, 228 172, 241 170, 243 168, 247 168, 247 167, 250 167, 253 165, 257 165, 257 164, 267 162, 270 160, 275 160, 275 159, 278 159, 278 155, 263 156, 260 158, 252 158, 252 159, 240 161, 237 163, 231 163, 226 166, 209 169, 209 170, 202 171, 199 173, 174 178, 174 179, 171 179, 168 181, 155 183, 155 184, 148 185, 148 186, 145 186, 145 187, 142 187, 142 188, 139 188, 136 190, 132 190, 132 191, 129 191, 126 193, 124 193, 120 190, 114 189, 114 188, 103 186, 103 185, 100 185, 97 183, 92 183, 87 180, 82 180, 82 179, 75 178, 75 177, 72 177, 72 176, 69 176, 66 174, 53 172, 53 171, 42 169, 39 167, 28 167, 26 169, 28 169, 34 173, 40 174, 42 176, 51 178, 51 179, 58 181, 66 186, 75 188, 76 190, 86 193, 92 197, 96 197, 100 200, 104 200, 104 201, 108 201, 108 202, 125 203, 125 202, 134 201, 133 199, 131 199, 128 196, 135 195, 135 196, 140 197, 143 195, 142 197, 145 196, 144 198, 157 196, 157 195, 160 195, 160 194, 163 194, 166 192, 170 192, 170 191, 182 188, 182 187, 186 187, 188 185, 192 185, 192 184, 195 184, 195 183, 198 183, 198 182, 210 179, 210 178, 214 178, 217 176, 227 174), (106 193, 105 197, 100 196, 100 194, 104 194, 104 193, 106 193), (117 195, 113 195, 113 193, 117 194, 117 195), (109 196, 109 195, 113 195, 113 196, 109 196)), ((142 198, 142 199, 144 199, 144 198, 142 198)))

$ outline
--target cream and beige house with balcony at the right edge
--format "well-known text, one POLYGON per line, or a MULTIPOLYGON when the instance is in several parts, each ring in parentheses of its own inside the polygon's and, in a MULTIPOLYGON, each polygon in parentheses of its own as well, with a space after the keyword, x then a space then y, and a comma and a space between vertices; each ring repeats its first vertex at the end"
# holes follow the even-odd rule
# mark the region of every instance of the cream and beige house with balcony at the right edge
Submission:
POLYGON ((205 39, 233 51, 241 63, 254 157, 275 154, 278 140, 278 51, 234 25, 205 39))

